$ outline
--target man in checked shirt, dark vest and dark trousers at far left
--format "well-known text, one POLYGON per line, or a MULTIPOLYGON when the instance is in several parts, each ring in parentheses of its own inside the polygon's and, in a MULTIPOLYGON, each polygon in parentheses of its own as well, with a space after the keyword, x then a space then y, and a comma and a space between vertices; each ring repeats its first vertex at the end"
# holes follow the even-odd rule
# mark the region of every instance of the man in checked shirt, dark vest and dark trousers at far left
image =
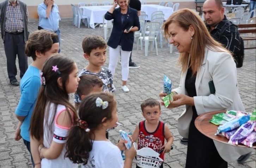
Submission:
POLYGON ((7 72, 10 83, 18 86, 16 79, 16 57, 18 55, 20 78, 28 69, 28 58, 25 55, 25 43, 28 40, 29 14, 27 6, 20 0, 5 0, 0 3, 1 36, 4 41, 7 59, 7 72))

